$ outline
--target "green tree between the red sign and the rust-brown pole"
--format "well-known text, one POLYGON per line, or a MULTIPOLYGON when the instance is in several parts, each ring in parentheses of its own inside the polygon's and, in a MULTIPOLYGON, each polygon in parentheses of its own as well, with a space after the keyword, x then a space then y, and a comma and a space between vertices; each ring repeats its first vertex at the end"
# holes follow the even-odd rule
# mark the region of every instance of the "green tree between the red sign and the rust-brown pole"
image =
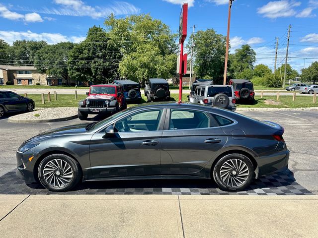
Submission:
MULTIPOLYGON (((191 52, 192 37, 191 34, 188 52, 191 52)), ((207 29, 195 33, 194 43, 194 70, 197 76, 212 78, 215 82, 221 81, 224 74, 226 37, 213 29, 207 29)))

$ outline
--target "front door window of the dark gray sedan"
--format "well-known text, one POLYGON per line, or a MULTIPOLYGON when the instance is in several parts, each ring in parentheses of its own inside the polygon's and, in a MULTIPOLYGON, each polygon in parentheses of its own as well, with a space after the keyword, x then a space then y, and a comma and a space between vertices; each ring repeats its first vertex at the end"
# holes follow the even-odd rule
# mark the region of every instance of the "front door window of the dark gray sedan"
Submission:
POLYGON ((155 131, 159 129, 162 109, 143 111, 116 122, 116 132, 155 131))

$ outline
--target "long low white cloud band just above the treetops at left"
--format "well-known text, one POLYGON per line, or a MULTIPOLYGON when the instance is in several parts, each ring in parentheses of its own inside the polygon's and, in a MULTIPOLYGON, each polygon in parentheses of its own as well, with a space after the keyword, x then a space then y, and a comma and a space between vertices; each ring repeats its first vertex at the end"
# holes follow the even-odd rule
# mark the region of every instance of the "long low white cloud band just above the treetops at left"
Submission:
POLYGON ((64 36, 60 33, 34 33, 31 31, 0 31, 0 39, 3 39, 10 45, 16 40, 33 40, 33 41, 47 41, 48 44, 56 44, 59 42, 71 41, 79 43, 83 41, 83 36, 64 36))

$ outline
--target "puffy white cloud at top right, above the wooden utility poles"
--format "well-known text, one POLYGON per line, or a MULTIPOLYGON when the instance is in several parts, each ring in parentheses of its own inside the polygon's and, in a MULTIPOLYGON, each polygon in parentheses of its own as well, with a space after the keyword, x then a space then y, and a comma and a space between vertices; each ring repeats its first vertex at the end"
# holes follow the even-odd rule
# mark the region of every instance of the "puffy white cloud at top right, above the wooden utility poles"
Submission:
POLYGON ((257 8, 257 13, 263 15, 263 17, 277 18, 277 17, 289 17, 296 15, 294 7, 300 6, 300 1, 270 1, 266 5, 257 8))

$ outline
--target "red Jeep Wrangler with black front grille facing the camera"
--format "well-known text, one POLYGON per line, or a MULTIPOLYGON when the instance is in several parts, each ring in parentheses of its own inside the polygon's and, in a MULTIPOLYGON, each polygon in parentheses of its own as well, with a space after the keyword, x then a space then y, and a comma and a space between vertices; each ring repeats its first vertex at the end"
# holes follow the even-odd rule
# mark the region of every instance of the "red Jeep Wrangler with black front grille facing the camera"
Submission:
POLYGON ((127 108, 122 85, 92 85, 86 95, 79 101, 80 120, 87 119, 88 114, 115 114, 127 108))

